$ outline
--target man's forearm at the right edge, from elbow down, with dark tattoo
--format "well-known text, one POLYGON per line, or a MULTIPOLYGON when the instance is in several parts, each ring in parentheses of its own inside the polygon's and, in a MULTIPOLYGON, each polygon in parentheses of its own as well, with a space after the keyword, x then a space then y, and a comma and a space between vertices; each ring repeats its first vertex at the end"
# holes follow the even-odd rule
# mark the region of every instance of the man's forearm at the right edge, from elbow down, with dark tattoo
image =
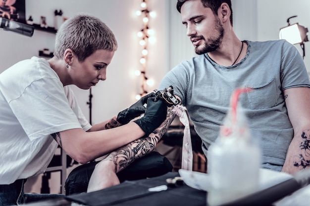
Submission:
POLYGON ((282 171, 294 174, 308 167, 310 167, 310 129, 304 129, 294 136, 282 171))

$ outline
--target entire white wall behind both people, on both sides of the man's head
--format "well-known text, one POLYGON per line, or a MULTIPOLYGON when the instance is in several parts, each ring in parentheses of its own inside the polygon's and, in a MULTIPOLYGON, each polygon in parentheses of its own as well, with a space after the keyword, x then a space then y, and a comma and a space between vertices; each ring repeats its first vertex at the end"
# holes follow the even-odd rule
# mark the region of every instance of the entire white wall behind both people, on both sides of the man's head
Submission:
MULTIPOLYGON (((136 33, 142 29, 142 19, 135 15, 142 0, 26 0, 26 18, 32 15, 39 23, 41 15, 53 25, 53 11, 62 9, 63 16, 71 17, 78 12, 87 12, 101 18, 114 32, 119 48, 108 67, 107 80, 92 88, 93 124, 116 115, 135 102, 135 94, 141 92, 141 78, 133 72, 140 69, 141 46, 136 33), (91 4, 90 4, 91 2, 91 4), (38 9, 40 8, 40 9, 38 9)), ((175 0, 149 0, 149 10, 157 16, 150 19, 150 28, 155 30, 156 43, 149 45, 147 76, 155 80, 149 91, 158 87, 164 74, 183 59, 195 55, 193 46, 186 36, 175 0)), ((278 39, 286 19, 309 27, 309 0, 233 0, 234 30, 241 40, 265 41, 278 39)), ((0 72, 17 61, 37 56, 38 51, 49 48, 53 51, 54 34, 35 30, 32 38, 0 30, 0 72), (5 49, 3 49, 5 48, 5 49)), ((300 49, 300 45, 296 45, 300 49)), ((305 63, 310 68, 310 43, 306 42, 305 63), (309 44, 309 45, 308 45, 309 44)), ((302 53, 302 51, 301 51, 302 53)), ((74 88, 80 106, 89 117, 88 90, 74 88)))

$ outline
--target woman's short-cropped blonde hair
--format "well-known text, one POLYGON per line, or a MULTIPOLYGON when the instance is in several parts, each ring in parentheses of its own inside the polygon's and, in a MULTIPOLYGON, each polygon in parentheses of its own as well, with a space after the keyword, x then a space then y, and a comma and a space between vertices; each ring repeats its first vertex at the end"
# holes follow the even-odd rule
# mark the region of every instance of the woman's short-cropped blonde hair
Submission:
POLYGON ((117 41, 112 31, 97 17, 77 14, 66 20, 56 33, 54 56, 62 59, 70 48, 83 62, 98 49, 116 51, 117 41))

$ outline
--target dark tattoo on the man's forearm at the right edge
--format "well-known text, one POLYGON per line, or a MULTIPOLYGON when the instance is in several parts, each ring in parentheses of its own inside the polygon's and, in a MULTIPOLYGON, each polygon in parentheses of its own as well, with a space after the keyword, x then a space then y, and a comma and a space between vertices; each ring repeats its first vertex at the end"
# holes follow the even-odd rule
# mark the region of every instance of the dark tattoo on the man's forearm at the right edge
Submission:
POLYGON ((296 161, 294 161, 294 166, 305 169, 310 166, 310 129, 304 130, 301 137, 303 141, 300 143, 299 147, 304 154, 300 154, 298 158, 295 158, 296 161))

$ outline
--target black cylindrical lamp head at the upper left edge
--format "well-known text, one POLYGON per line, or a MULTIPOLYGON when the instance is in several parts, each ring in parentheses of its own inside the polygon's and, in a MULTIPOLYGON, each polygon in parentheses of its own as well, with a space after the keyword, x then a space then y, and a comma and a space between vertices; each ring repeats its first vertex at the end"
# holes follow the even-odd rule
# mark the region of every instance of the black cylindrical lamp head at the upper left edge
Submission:
POLYGON ((32 37, 35 29, 33 26, 11 21, 2 17, 0 17, 0 28, 3 28, 3 30, 6 31, 16 32, 27 37, 32 37))

